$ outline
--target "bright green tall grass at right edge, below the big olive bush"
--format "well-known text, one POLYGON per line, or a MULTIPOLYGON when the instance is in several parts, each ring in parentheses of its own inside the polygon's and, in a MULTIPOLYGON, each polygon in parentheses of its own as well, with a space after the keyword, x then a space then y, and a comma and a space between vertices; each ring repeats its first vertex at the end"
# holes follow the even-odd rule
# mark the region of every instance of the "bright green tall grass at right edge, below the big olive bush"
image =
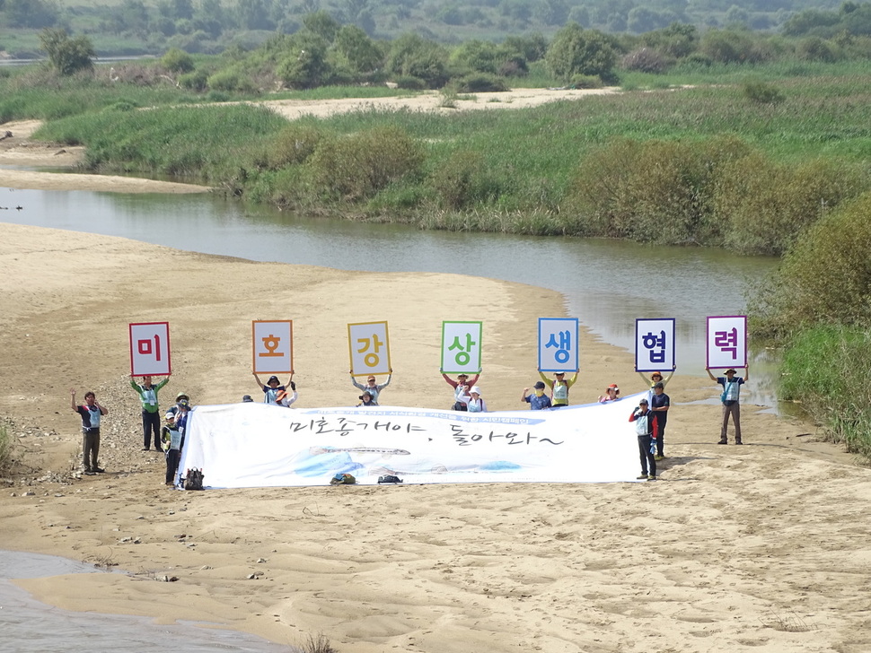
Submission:
POLYGON ((780 396, 801 402, 827 437, 871 459, 871 334, 808 328, 787 345, 780 396))

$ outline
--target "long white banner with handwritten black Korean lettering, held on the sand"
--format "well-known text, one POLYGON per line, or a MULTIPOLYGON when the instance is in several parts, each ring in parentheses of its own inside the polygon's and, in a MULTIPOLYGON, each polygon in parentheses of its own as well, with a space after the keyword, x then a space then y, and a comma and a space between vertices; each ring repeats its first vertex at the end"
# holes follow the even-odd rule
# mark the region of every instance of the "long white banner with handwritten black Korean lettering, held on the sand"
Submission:
POLYGON ((415 408, 293 410, 198 406, 180 474, 213 488, 328 485, 336 474, 374 484, 608 483, 640 472, 629 414, 638 398, 559 410, 459 413, 415 408))

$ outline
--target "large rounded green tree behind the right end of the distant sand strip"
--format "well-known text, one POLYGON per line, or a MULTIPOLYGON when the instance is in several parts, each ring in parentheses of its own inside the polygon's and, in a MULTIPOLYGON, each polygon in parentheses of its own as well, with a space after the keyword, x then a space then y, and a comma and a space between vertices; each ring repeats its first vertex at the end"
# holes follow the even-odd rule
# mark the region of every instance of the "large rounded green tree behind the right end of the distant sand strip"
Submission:
POLYGON ((597 75, 605 83, 616 80, 613 72, 618 50, 610 37, 569 22, 550 41, 545 61, 550 72, 568 83, 574 75, 597 75))

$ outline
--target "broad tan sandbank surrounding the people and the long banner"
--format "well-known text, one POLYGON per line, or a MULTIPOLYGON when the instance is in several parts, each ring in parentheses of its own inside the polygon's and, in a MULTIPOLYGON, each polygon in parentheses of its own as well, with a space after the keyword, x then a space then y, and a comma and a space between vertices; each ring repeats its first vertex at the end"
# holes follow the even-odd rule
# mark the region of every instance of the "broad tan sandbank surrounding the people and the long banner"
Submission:
MULTIPOLYGON (((0 414, 22 465, 0 492, 0 549, 130 572, 16 581, 42 601, 285 644, 323 632, 341 653, 871 650, 871 473, 812 425, 752 405, 745 444, 717 446, 717 389, 699 370, 667 388, 655 483, 177 492, 163 486, 163 457, 140 450, 128 322, 172 325, 163 405, 180 390, 195 404, 256 394, 251 319, 294 318, 299 405, 354 398, 345 325, 388 319, 391 403, 447 407, 441 320, 480 318, 480 385, 504 410, 535 380, 535 320, 564 314, 558 293, 475 279, 477 292, 458 296, 470 280, 452 274, 2 229, 0 414), (77 472, 69 387, 110 409, 105 475, 77 472)), ((581 366, 576 403, 611 382, 642 389, 631 354, 586 332, 581 366)))

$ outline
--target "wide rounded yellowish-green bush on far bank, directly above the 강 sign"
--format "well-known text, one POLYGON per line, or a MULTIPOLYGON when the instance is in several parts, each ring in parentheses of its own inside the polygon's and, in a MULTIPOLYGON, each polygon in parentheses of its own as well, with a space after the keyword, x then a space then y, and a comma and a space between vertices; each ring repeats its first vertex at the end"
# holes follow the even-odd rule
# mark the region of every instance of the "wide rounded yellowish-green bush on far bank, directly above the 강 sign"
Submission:
POLYGON ((331 197, 358 201, 416 174, 424 152, 399 127, 375 127, 321 142, 310 160, 315 184, 331 197))

